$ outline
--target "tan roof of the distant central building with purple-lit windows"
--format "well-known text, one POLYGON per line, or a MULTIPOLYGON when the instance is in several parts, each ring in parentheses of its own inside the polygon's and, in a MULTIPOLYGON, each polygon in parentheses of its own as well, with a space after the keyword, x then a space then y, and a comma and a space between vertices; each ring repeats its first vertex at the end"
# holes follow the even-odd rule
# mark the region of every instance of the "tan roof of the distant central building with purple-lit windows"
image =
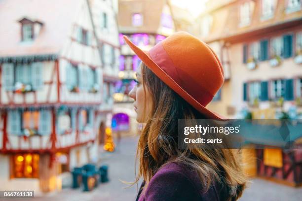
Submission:
POLYGON ((119 0, 118 26, 122 33, 156 33, 166 0, 119 0), (132 26, 132 14, 143 15, 143 26, 132 26))

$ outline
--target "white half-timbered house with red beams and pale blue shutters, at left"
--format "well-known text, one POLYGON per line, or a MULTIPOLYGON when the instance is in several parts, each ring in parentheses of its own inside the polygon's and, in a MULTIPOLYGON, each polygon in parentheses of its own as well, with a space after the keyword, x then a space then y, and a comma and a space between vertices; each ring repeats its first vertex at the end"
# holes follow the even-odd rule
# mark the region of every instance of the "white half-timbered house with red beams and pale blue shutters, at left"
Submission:
POLYGON ((0 189, 60 190, 73 167, 98 162, 110 126, 112 2, 4 0, 0 16, 0 189))

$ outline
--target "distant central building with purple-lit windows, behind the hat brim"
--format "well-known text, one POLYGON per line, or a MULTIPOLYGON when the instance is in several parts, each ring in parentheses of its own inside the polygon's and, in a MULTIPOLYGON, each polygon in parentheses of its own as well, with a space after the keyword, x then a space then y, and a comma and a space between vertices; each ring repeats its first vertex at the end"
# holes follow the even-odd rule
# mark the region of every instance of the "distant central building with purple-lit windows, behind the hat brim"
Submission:
POLYGON ((128 93, 135 86, 135 71, 141 61, 125 44, 123 35, 141 49, 149 50, 174 33, 175 25, 167 0, 119 0, 118 7, 120 80, 116 83, 116 93, 113 95, 115 100, 113 130, 118 135, 136 135, 139 125, 135 120, 134 100, 128 93))

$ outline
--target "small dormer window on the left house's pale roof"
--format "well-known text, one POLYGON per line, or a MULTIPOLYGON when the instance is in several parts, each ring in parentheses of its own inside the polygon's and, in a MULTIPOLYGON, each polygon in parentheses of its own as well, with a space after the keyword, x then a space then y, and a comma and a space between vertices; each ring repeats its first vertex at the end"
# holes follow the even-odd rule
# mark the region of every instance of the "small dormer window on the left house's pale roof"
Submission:
POLYGON ((22 41, 32 41, 34 40, 43 25, 43 23, 38 20, 30 19, 29 17, 24 17, 18 21, 21 24, 21 40, 22 41))

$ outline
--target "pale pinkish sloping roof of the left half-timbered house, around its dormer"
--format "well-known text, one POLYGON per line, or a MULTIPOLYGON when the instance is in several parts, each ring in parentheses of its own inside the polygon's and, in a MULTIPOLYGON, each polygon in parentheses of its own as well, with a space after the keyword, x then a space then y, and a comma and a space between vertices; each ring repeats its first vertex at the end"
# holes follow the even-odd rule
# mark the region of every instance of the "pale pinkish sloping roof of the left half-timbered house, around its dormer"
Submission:
POLYGON ((1 0, 0 57, 58 54, 76 22, 83 0, 1 0), (43 26, 32 42, 21 41, 20 19, 43 26))

